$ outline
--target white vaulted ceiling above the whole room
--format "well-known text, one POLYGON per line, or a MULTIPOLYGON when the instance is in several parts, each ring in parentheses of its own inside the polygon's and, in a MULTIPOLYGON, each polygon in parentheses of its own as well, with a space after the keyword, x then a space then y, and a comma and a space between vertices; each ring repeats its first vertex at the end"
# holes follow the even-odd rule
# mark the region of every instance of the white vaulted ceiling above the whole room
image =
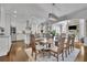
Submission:
POLYGON ((86 3, 55 3, 55 6, 53 3, 1 3, 0 6, 4 8, 6 13, 15 15, 17 21, 24 22, 30 20, 33 23, 47 22, 48 13, 54 13, 63 19, 62 17, 87 7, 86 3))

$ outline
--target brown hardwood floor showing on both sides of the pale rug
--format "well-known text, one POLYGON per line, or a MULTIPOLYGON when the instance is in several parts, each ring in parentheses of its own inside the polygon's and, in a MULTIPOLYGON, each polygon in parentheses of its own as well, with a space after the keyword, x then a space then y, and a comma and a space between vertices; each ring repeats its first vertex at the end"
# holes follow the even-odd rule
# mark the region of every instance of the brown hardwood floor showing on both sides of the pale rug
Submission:
MULTIPOLYGON (((28 62, 29 56, 24 52, 24 47, 25 45, 23 41, 13 42, 9 54, 6 56, 0 56, 0 62, 28 62)), ((75 62, 84 62, 85 56, 83 43, 75 43, 75 47, 80 50, 75 62)))

